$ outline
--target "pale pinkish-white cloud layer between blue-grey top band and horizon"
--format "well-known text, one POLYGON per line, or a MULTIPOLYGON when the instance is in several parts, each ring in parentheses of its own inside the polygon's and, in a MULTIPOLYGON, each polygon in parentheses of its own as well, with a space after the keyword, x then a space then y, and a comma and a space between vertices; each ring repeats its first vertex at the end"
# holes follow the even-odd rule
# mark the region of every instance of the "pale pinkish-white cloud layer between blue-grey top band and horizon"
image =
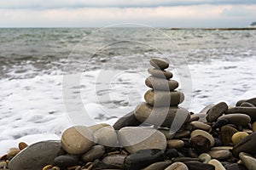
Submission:
POLYGON ((256 16, 256 5, 239 5, 251 17, 223 17, 233 5, 193 5, 157 8, 52 8, 2 9, 2 27, 87 27, 140 23, 168 27, 247 26, 256 16))

